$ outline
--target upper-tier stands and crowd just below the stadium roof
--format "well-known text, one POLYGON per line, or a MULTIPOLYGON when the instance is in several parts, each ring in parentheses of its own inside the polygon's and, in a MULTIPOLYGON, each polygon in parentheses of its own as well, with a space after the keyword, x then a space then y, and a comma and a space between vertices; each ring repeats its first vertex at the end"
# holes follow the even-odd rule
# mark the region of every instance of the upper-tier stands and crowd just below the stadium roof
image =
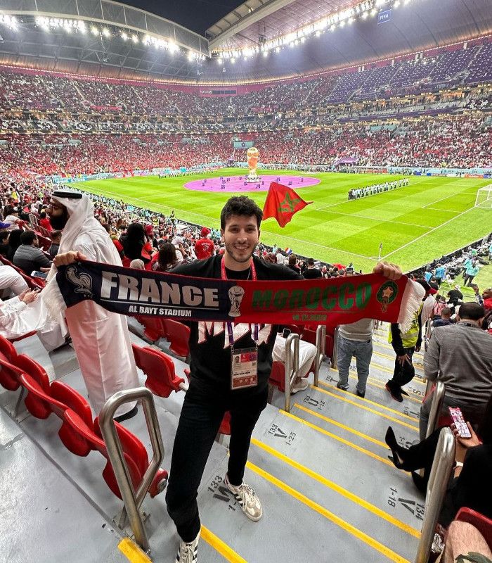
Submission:
POLYGON ((254 115, 320 108, 346 101, 391 99, 491 79, 492 43, 425 56, 415 61, 368 65, 308 80, 277 84, 239 96, 200 97, 193 92, 138 82, 88 80, 48 73, 0 71, 1 110, 68 110, 138 115, 254 115))

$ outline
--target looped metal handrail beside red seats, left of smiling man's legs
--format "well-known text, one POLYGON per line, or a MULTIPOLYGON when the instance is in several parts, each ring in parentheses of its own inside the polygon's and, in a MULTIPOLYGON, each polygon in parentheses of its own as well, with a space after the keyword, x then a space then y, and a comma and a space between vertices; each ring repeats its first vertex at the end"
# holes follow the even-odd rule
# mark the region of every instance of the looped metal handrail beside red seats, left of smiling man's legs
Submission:
POLYGON ((148 552, 150 545, 148 543, 147 533, 145 532, 142 517, 140 512, 138 512, 138 509, 140 508, 143 498, 145 498, 145 495, 150 488, 150 484, 152 483, 160 464, 164 459, 164 444, 162 443, 162 436, 160 434, 159 421, 157 419, 157 412, 155 411, 153 394, 145 387, 118 391, 111 396, 103 406, 103 409, 99 414, 99 426, 101 426, 101 433, 103 434, 106 448, 108 448, 108 455, 112 469, 115 472, 119 492, 122 495, 124 503, 120 526, 124 525, 126 515, 128 514, 131 530, 134 533, 136 543, 138 543, 144 551, 148 552), (118 407, 124 403, 131 403, 135 400, 141 400, 143 405, 145 422, 147 423, 150 443, 152 444, 153 449, 153 458, 150 460, 147 471, 145 471, 136 492, 131 485, 129 470, 127 463, 124 460, 122 445, 119 441, 115 421, 113 419, 118 407))

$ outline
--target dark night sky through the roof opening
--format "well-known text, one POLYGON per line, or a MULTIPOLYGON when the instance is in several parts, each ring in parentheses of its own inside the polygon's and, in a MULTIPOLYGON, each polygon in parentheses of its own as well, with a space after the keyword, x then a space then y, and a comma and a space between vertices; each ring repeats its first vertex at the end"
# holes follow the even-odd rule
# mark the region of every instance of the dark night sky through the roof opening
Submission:
POLYGON ((119 0, 135 8, 141 8, 162 18, 179 23, 189 30, 205 34, 212 24, 224 17, 244 0, 119 0))

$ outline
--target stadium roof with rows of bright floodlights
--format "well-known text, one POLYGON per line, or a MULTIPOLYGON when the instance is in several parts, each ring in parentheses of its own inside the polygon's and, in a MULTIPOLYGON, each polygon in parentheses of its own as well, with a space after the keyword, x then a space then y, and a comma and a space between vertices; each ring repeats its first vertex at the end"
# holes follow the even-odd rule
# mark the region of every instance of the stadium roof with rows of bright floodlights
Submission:
MULTIPOLYGON (((190 6, 194 20, 202 13, 209 21, 208 3, 173 4, 178 23, 129 4, 153 6, 146 0, 0 0, 0 62, 227 84, 315 74, 492 33, 491 0, 229 0, 227 9, 235 8, 207 37, 179 22, 191 21, 190 6), (387 13, 382 23, 380 12, 387 13), (16 26, 8 25, 8 15, 16 26), (48 18, 44 25, 40 17, 48 18), (85 32, 75 18, 85 22, 85 32)), ((165 4, 159 9, 164 13, 165 4)))

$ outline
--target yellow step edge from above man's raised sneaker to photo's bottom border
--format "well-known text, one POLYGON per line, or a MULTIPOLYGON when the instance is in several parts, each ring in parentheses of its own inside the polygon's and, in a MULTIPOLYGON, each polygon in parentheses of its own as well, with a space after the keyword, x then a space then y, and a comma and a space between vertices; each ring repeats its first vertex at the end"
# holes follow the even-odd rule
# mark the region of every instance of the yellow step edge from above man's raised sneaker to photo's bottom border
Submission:
POLYGON ((398 555, 393 550, 387 548, 386 545, 383 545, 382 543, 378 542, 374 538, 371 538, 363 531, 357 529, 355 526, 352 526, 348 522, 344 521, 342 518, 336 516, 335 514, 327 510, 325 507, 318 505, 317 502, 314 502, 313 500, 306 497, 302 493, 299 493, 299 491, 296 491, 294 488, 286 485, 285 483, 283 483, 283 481, 280 481, 280 479, 277 479, 273 475, 268 474, 263 469, 260 469, 259 467, 252 464, 251 462, 247 462, 246 467, 250 469, 252 472, 266 479, 266 481, 268 481, 269 483, 272 483, 276 487, 280 488, 280 490, 284 491, 288 495, 299 500, 299 502, 302 502, 304 505, 311 508, 311 510, 318 512, 318 514, 321 514, 321 516, 332 521, 333 524, 336 524, 337 526, 339 526, 339 528, 342 528, 343 530, 350 533, 352 536, 358 538, 358 540, 361 540, 366 545, 369 545, 370 548, 373 548, 374 550, 380 552, 382 555, 384 555, 384 557, 387 557, 391 561, 394 561, 394 563, 410 563, 408 559, 401 557, 401 555, 398 555))

